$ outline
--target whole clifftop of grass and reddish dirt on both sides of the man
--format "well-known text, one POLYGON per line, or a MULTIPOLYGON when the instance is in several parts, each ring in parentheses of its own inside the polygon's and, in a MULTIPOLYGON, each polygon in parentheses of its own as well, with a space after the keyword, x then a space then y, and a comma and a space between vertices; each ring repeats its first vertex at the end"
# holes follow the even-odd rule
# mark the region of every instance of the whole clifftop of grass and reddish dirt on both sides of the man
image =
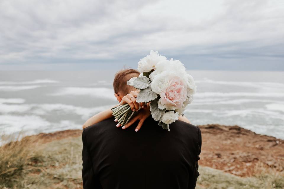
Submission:
MULTIPOLYGON (((239 126, 199 127, 197 189, 284 188, 283 140, 239 126)), ((1 146, 0 188, 82 188, 81 135, 40 133, 1 146)))

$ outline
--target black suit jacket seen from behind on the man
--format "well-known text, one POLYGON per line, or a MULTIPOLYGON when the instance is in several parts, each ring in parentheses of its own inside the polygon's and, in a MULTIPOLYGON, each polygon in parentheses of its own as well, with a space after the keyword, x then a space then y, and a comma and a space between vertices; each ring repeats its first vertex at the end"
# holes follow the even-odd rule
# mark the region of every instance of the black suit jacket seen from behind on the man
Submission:
POLYGON ((200 129, 177 120, 170 132, 151 116, 122 130, 113 118, 83 130, 83 186, 103 189, 195 188, 200 129))

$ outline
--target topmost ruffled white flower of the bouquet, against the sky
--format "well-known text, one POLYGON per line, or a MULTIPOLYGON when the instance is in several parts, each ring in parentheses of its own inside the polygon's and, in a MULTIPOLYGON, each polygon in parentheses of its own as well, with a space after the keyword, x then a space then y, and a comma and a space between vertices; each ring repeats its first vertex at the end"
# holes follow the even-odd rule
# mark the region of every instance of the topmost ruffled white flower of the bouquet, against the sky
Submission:
POLYGON ((159 55, 158 51, 151 50, 148 56, 138 62, 138 70, 141 73, 151 71, 156 68, 158 62, 164 60, 167 60, 167 57, 159 55))

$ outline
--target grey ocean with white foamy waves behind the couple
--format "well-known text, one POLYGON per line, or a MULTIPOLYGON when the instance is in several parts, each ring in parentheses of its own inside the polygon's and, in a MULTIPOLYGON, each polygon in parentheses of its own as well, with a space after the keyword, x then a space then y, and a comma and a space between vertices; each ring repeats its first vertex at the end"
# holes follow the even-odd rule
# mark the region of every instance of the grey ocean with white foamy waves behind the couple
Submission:
MULTIPOLYGON (((114 70, 0 71, 0 140, 81 129, 117 104, 114 70)), ((284 72, 189 70, 197 85, 185 116, 194 125, 238 125, 284 139, 284 72)), ((130 128, 132 129, 132 128, 130 128)))

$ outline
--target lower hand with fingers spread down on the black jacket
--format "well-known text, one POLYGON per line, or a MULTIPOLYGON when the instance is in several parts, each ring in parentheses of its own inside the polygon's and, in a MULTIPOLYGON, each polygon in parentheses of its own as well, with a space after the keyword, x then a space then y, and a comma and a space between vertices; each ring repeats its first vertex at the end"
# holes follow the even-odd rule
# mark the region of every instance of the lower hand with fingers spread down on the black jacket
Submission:
POLYGON ((141 126, 143 125, 144 121, 149 117, 149 115, 151 115, 150 112, 150 106, 149 103, 144 105, 144 108, 141 108, 138 112, 138 114, 131 118, 131 120, 125 124, 125 126, 122 127, 122 129, 126 129, 129 126, 131 126, 133 123, 135 123, 135 121, 140 120, 137 127, 135 128, 135 131, 139 131, 139 129, 141 128, 141 126))

